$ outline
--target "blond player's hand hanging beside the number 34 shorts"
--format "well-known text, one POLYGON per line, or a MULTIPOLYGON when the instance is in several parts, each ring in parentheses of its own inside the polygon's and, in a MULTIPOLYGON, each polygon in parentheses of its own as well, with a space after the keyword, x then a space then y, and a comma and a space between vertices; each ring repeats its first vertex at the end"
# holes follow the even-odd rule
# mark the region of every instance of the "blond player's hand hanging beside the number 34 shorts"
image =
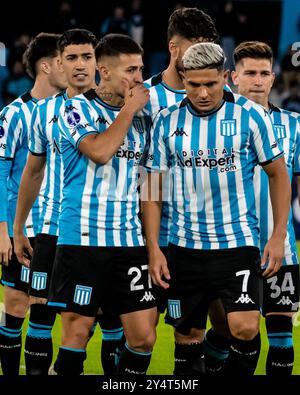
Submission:
POLYGON ((263 277, 272 277, 281 268, 284 257, 284 238, 271 236, 267 242, 261 259, 261 266, 264 267, 268 262, 263 277))

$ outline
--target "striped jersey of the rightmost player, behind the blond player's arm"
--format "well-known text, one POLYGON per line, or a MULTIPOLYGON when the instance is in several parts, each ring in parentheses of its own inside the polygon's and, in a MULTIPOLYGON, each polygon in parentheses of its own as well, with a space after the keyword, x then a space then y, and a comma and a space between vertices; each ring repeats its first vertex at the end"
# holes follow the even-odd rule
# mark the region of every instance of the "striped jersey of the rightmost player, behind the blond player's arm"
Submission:
MULTIPOLYGON (((237 102, 243 105, 246 100, 247 99, 245 97, 240 96, 237 102)), ((285 162, 292 182, 293 174, 300 172, 299 114, 283 110, 272 104, 270 104, 269 114, 277 133, 277 139, 284 150, 285 162)), ((256 211, 260 228, 260 250, 261 253, 263 253, 265 245, 273 231, 273 212, 269 193, 268 176, 260 166, 255 168, 254 188, 256 211)), ((291 209, 287 226, 287 237, 285 239, 285 258, 283 260, 283 265, 298 264, 296 237, 291 209)))

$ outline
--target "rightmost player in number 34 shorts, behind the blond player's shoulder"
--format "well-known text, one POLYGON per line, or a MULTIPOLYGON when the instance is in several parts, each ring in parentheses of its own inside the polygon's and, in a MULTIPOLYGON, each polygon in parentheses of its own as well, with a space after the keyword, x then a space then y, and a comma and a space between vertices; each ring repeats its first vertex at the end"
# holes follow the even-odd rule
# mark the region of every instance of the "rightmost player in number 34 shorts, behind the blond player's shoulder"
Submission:
MULTIPOLYGON (((232 72, 232 80, 238 87, 238 93, 260 104, 270 114, 278 140, 284 149, 291 182, 293 174, 299 175, 300 172, 299 114, 278 108, 269 102, 269 94, 275 79, 272 71, 272 49, 263 42, 243 42, 234 51, 234 62, 235 71, 232 72)), ((241 97, 238 102, 243 104, 245 100, 241 97)), ((259 247, 262 255, 273 232, 271 187, 265 172, 260 167, 256 167, 254 190, 260 228, 259 247)), ((266 262, 265 255, 262 261, 266 262)), ((291 375, 294 364, 292 316, 297 311, 299 301, 299 261, 291 209, 283 266, 276 275, 264 278, 263 287, 262 314, 265 316, 269 340, 266 374, 291 375)))

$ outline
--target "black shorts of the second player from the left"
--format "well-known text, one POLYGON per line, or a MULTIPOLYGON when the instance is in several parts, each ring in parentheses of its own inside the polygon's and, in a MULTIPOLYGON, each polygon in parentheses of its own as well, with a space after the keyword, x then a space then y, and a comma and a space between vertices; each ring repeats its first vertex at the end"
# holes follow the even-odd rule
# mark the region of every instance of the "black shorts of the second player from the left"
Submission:
POLYGON ((56 252, 57 236, 38 234, 30 262, 29 295, 48 298, 52 269, 56 252))

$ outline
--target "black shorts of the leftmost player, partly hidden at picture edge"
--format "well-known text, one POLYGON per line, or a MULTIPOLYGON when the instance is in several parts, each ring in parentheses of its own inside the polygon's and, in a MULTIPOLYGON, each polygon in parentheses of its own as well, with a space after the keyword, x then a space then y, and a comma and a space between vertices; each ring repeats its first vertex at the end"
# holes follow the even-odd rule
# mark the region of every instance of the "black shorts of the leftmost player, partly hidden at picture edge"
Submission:
MULTIPOLYGON (((29 241, 34 248, 35 237, 30 237, 29 241)), ((13 238, 11 238, 11 243, 13 245, 13 238)), ((2 265, 1 284, 27 294, 29 289, 29 272, 29 268, 19 263, 17 256, 13 252, 8 266, 2 265)))

